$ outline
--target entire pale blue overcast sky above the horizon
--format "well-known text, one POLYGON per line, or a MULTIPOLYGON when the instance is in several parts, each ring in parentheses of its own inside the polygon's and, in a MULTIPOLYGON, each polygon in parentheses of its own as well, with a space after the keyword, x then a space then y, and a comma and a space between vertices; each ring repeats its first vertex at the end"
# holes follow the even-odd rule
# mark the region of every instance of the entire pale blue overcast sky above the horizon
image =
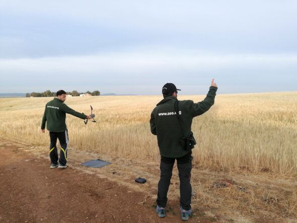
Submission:
POLYGON ((296 91, 297 1, 0 0, 0 93, 296 91))

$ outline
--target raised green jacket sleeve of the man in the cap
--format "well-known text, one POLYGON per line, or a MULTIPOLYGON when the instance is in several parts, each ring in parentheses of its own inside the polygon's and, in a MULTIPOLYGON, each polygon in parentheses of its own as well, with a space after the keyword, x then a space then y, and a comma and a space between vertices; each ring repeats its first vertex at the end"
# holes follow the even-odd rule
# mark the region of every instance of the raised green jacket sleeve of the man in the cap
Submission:
POLYGON ((208 111, 208 109, 214 104, 216 90, 217 87, 210 86, 206 98, 204 98, 203 101, 198 103, 190 101, 189 112, 192 115, 192 117, 202 115, 204 112, 208 111))

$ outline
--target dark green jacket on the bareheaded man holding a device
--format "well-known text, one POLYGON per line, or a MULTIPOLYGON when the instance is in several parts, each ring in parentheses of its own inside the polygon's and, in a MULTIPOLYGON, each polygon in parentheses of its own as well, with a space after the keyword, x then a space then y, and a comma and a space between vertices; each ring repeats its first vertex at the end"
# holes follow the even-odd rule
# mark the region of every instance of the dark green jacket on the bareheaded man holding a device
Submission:
POLYGON ((69 108, 60 99, 54 98, 45 105, 41 129, 45 128, 45 122, 47 122, 47 130, 55 132, 65 131, 67 129, 65 123, 66 113, 82 119, 87 118, 87 115, 69 108))

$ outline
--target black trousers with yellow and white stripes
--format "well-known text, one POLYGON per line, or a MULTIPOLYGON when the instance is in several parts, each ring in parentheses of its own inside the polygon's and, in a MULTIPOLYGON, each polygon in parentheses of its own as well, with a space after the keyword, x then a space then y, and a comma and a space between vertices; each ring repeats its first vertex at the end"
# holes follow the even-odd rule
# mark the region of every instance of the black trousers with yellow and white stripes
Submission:
POLYGON ((49 157, 50 161, 53 164, 57 164, 58 162, 61 165, 66 165, 67 163, 67 148, 69 144, 68 140, 68 130, 62 132, 49 132, 50 137, 50 146, 49 146, 49 157), (59 139, 61 150, 60 150, 60 159, 58 157, 58 150, 57 150, 57 139, 59 139))

